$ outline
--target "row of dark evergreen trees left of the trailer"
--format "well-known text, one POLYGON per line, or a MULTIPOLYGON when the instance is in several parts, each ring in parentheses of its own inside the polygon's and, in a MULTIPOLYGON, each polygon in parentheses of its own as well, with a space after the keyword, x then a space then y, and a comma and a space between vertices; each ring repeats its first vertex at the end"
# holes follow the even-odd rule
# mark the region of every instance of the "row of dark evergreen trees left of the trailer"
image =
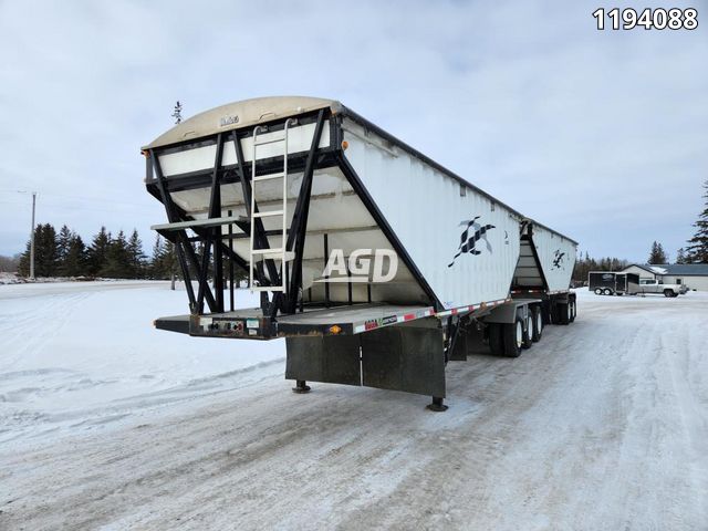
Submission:
MULTIPOLYGON (((30 241, 20 256, 18 273, 30 274, 30 241)), ((51 223, 34 229, 35 277, 87 277, 110 279, 169 279, 176 274, 174 244, 157 235, 147 257, 137 230, 113 236, 105 227, 90 244, 65 225, 59 232, 51 223)))

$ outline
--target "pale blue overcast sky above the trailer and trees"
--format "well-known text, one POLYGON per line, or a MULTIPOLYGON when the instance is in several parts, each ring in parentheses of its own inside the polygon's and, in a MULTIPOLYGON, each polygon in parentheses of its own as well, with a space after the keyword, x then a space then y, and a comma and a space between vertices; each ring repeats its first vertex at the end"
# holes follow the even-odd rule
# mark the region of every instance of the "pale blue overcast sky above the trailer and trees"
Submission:
MULTIPOLYGON (((139 147, 266 95, 332 97, 592 256, 673 259, 708 178, 695 31, 597 31, 600 2, 0 0, 0 253, 165 222, 139 147)), ((613 7, 616 3, 610 6, 613 7)), ((622 6, 622 3, 621 3, 622 6)), ((644 8, 653 2, 626 3, 644 8)))

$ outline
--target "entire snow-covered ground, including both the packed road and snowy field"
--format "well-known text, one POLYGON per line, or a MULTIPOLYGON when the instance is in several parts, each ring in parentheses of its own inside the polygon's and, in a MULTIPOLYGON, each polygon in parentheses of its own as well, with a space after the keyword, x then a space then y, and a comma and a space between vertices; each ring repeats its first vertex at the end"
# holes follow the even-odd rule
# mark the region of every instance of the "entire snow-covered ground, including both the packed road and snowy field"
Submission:
POLYGON ((451 362, 445 414, 292 394, 281 342, 152 329, 184 308, 0 287, 0 529, 706 529, 707 294, 581 290, 521 357, 451 362))

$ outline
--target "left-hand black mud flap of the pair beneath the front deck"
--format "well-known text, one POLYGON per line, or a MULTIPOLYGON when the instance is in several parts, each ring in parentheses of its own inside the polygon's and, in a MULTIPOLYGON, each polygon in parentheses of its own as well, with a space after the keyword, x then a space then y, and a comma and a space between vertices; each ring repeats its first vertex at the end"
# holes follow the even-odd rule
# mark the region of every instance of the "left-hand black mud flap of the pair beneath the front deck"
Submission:
POLYGON ((362 384, 358 336, 287 337, 285 345, 287 379, 362 384))

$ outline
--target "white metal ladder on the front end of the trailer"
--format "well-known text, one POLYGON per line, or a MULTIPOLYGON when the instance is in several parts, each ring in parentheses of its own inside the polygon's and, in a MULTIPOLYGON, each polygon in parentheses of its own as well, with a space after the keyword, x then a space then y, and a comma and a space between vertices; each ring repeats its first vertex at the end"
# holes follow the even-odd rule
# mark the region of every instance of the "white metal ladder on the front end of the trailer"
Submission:
MULTIPOLYGON (((252 164, 251 164, 251 232, 250 232, 250 243, 249 243, 249 287, 250 290, 253 291, 273 291, 273 292, 282 292, 285 293, 288 291, 288 274, 287 267, 288 262, 294 259, 295 253, 292 251, 288 251, 287 249, 287 240, 288 240, 288 131, 289 126, 294 124, 295 121, 290 118, 285 121, 285 125, 283 127, 282 134, 271 138, 264 138, 262 140, 258 139, 258 134, 266 132, 266 127, 261 125, 257 125, 253 128, 253 146, 252 146, 252 164), (268 144, 281 144, 283 145, 283 170, 282 173, 268 174, 268 175, 258 175, 256 170, 258 157, 257 150, 258 146, 263 146, 268 144), (257 210, 257 194, 258 194, 258 184, 264 183, 273 179, 282 179, 283 181, 283 199, 282 206, 280 210, 257 210), (281 222, 281 239, 279 248, 263 248, 257 247, 257 238, 256 238, 256 219, 260 219, 261 222, 264 221, 266 218, 280 218, 281 222), (261 260, 280 260, 280 279, 270 279, 271 285, 253 285, 253 271, 256 269, 256 262, 261 260), (275 282, 280 280, 280 284, 275 282)), ((277 134, 278 132, 273 133, 277 134)))

